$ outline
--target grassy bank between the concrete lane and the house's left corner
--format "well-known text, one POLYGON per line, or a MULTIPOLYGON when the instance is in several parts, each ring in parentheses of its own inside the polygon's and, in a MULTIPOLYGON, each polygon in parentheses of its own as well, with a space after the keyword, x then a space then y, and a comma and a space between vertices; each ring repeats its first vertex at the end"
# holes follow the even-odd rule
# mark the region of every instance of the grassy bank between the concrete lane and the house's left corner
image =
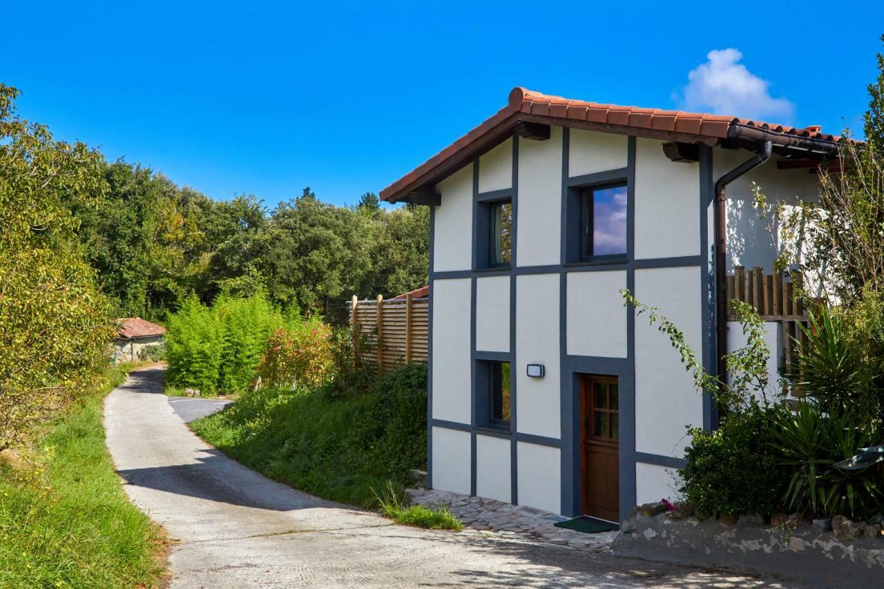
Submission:
POLYGON ((426 366, 392 371, 364 390, 263 388, 191 424, 248 467, 332 501, 377 508, 373 489, 426 469, 426 366))

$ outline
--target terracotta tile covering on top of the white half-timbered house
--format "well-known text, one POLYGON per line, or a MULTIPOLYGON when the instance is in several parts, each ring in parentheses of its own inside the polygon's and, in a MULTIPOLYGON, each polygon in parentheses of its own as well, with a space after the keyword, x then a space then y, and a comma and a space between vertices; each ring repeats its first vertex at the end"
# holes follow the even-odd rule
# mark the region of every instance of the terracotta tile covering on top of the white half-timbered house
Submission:
MULTIPOLYGON (((744 130, 743 133, 735 133, 739 127, 768 132, 765 140, 773 141, 775 147, 795 145, 794 140, 804 139, 819 143, 820 149, 831 152, 834 144, 841 141, 840 136, 823 133, 816 125, 802 128, 729 115, 590 103, 562 96, 547 96, 517 87, 509 93, 507 106, 412 172, 381 190, 381 199, 391 202, 403 200, 415 188, 441 178, 446 172, 453 172, 453 165, 467 163, 461 161, 459 155, 469 151, 470 147, 481 140, 487 140, 484 142, 486 144, 508 136, 517 120, 595 128, 609 133, 635 134, 668 141, 705 142, 710 145, 735 136, 746 136, 744 130), (453 162, 455 159, 458 161, 453 162)), ((485 144, 477 146, 475 151, 487 148, 485 144)), ((476 157, 476 153, 465 155, 476 157)))

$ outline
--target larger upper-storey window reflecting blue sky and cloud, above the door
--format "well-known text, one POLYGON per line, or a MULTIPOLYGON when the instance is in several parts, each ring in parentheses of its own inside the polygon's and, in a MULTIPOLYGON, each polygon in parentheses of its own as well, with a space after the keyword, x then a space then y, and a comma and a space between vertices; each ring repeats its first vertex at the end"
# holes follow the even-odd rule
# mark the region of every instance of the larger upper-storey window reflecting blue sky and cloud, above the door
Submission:
POLYGON ((626 254, 625 184, 584 188, 581 193, 580 259, 626 254))

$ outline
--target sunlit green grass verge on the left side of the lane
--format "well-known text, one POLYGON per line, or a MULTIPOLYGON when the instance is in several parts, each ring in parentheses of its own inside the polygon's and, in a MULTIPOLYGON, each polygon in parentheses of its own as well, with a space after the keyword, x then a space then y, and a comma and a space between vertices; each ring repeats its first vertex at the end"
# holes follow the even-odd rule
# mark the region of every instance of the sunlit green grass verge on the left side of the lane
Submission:
POLYGON ((46 427, 23 458, 0 460, 0 587, 133 587, 163 574, 162 530, 126 500, 104 446, 110 371, 46 427))

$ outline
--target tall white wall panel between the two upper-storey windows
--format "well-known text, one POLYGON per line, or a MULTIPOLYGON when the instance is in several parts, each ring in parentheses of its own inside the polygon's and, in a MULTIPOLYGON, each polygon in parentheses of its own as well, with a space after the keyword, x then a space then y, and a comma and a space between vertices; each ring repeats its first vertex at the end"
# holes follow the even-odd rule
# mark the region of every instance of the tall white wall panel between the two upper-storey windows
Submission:
POLYGON ((561 137, 553 126, 544 142, 519 141, 516 264, 560 263, 561 137))

